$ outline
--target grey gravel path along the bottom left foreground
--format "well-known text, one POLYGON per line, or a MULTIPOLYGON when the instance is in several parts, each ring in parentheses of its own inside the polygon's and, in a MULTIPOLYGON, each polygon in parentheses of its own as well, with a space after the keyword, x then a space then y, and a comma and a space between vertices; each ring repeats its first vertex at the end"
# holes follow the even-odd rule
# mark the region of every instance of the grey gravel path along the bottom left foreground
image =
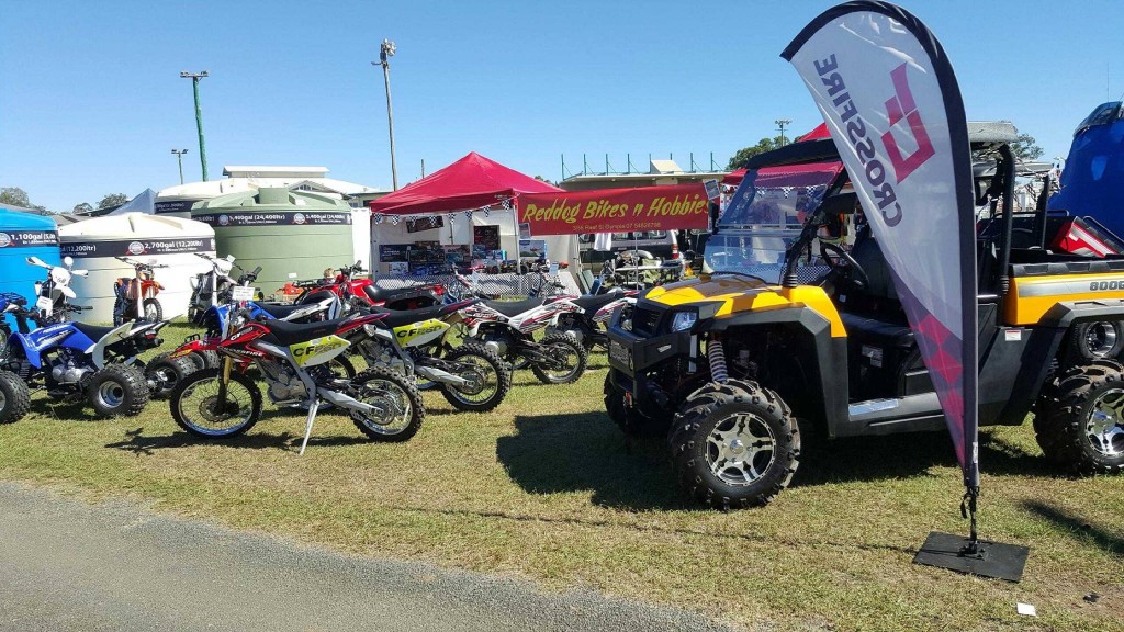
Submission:
POLYGON ((720 630, 681 611, 0 482, 0 630, 720 630))

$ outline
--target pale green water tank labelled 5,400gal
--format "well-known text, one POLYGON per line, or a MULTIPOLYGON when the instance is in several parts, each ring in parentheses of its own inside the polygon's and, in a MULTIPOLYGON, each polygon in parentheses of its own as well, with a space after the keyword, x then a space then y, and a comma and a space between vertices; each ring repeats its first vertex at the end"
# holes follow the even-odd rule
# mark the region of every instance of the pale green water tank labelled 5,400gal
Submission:
POLYGON ((191 218, 215 228, 219 256, 233 254, 244 270, 262 267, 256 285, 266 296, 291 273, 319 279, 326 268, 355 262, 351 207, 343 200, 261 188, 196 202, 191 218))

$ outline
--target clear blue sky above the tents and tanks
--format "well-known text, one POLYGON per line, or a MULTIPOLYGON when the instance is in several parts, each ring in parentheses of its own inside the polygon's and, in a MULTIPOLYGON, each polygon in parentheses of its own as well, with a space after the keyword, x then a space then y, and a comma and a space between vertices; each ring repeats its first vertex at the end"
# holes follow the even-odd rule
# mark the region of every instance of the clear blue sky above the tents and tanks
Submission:
MULTIPOLYGON (((0 186, 69 210, 224 164, 314 164, 390 188, 379 43, 391 62, 399 183, 470 151, 525 173, 646 169, 819 123, 788 42, 834 2, 102 2, 0 0, 0 186)), ((1013 120, 1066 155, 1120 97, 1114 2, 903 2, 952 58, 969 119, 1013 120)))

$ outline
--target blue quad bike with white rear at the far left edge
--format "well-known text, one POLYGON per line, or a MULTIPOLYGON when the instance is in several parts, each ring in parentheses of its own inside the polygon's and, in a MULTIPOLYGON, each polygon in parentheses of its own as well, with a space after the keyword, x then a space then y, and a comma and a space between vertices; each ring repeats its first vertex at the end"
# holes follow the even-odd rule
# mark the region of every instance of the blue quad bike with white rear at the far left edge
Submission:
MULTIPOLYGON (((67 305, 64 309, 82 308, 67 305)), ((63 322, 27 331, 34 310, 8 313, 16 316, 19 331, 8 338, 2 368, 15 373, 25 390, 45 388, 51 397, 67 403, 88 399, 102 417, 133 416, 148 403, 148 378, 136 356, 160 346, 157 333, 166 322, 139 320, 117 327, 63 322)), ((7 397, 3 382, 0 372, 0 394, 7 397)), ((0 408, 0 417, 4 413, 0 408)))

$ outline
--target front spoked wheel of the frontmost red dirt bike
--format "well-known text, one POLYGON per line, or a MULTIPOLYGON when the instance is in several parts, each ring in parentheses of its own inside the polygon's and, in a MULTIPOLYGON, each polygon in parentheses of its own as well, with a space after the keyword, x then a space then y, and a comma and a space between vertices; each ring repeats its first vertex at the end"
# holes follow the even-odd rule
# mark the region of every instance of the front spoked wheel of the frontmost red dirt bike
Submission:
POLYGON ((262 392, 250 378, 230 373, 226 398, 219 401, 220 369, 205 369, 188 376, 172 391, 175 423, 202 439, 225 439, 248 431, 262 413, 262 392))

